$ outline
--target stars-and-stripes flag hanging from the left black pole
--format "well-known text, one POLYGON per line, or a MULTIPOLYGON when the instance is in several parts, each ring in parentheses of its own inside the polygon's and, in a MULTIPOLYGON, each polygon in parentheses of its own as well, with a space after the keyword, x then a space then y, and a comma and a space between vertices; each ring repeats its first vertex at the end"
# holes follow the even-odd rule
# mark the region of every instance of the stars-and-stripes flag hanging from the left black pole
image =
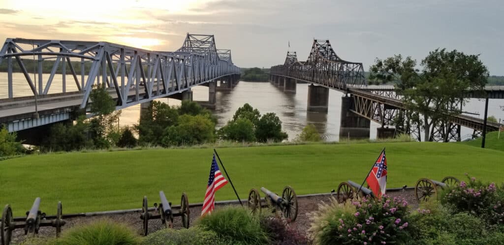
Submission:
POLYGON ((211 213, 214 210, 215 192, 227 184, 226 178, 222 176, 219 165, 214 158, 212 159, 212 167, 210 168, 210 176, 208 177, 207 193, 205 193, 205 201, 203 202, 203 209, 201 216, 211 213))

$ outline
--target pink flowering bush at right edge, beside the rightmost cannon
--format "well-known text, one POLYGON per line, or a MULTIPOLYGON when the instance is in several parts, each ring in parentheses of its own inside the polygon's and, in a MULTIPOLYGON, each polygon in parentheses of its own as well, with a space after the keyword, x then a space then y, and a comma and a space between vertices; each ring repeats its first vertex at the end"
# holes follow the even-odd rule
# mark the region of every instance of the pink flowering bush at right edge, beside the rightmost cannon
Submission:
POLYGON ((467 212, 490 224, 504 224, 504 197, 495 183, 483 183, 468 176, 468 181, 448 190, 440 199, 454 213, 467 212))

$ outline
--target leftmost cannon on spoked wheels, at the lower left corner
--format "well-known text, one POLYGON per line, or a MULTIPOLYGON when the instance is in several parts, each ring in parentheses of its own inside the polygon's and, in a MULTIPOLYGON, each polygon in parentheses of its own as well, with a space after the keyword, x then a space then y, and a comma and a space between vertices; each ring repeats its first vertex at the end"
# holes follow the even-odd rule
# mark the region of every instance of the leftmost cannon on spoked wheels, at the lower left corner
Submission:
POLYGON ((2 213, 2 221, 0 223, 0 244, 9 245, 11 243, 12 231, 23 228, 25 235, 31 233, 38 234, 40 227, 52 226, 56 228, 56 236, 61 232, 61 226, 65 225, 63 217, 63 208, 61 202, 58 202, 56 216, 48 217, 45 213, 39 210, 40 198, 36 198, 29 211, 26 212, 26 218, 14 218, 12 215, 11 205, 6 205, 2 213))

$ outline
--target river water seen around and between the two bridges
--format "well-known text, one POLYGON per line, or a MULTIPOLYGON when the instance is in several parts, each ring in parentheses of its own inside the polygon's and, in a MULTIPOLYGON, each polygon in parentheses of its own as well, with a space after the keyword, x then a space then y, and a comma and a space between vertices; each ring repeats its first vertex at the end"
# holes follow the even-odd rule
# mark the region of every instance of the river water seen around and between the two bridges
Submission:
MULTIPOLYGON (((33 76, 32 76, 33 77, 33 76)), ((46 80, 48 75, 44 74, 46 80)), ((80 77, 79 77, 80 79, 80 77)), ((67 75, 67 91, 76 91, 77 86, 73 77, 67 75)), ((21 73, 13 74, 14 96, 31 95, 31 90, 21 73)), ((56 75, 52 81, 49 93, 60 93, 62 84, 61 75, 56 75)), ((44 82, 45 86, 45 82, 44 82)), ((193 88, 194 100, 208 100, 208 88, 197 86, 193 88)), ((324 136, 326 141, 338 141, 340 131, 341 97, 343 93, 336 90, 329 92, 329 111, 327 113, 307 112, 308 84, 297 84, 296 94, 285 94, 270 83, 260 82, 239 82, 232 91, 218 91, 217 102, 214 113, 219 118, 218 128, 230 120, 238 107, 244 103, 249 103, 254 108, 259 109, 261 114, 274 112, 282 121, 282 130, 289 135, 289 140, 293 140, 307 124, 313 124, 324 136)), ((7 73, 0 73, 0 98, 8 97, 7 73)), ((179 105, 176 99, 159 99, 169 105, 179 105)), ((490 99, 488 104, 488 115, 493 115, 504 119, 504 111, 500 108, 504 105, 504 100, 490 99)), ((464 107, 464 111, 480 113, 472 115, 483 118, 484 100, 470 99, 464 107)), ((140 116, 140 105, 131 106, 122 110, 119 123, 122 126, 132 126, 138 123, 140 116)), ((376 128, 378 124, 371 121, 370 139, 376 138, 376 128)), ((462 127, 462 136, 471 134, 472 130, 462 127)))

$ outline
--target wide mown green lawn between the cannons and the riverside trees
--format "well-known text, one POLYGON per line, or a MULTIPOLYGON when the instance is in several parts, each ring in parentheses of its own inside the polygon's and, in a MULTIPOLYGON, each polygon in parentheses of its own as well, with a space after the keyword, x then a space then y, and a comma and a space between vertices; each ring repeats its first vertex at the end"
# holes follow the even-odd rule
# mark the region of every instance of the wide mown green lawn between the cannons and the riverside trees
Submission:
MULTIPOLYGON (((341 181, 361 182, 387 147, 388 187, 413 186, 418 178, 464 178, 469 172, 485 181, 503 182, 504 152, 446 143, 320 144, 219 149, 240 198, 250 188, 296 193, 327 193, 341 181)), ((15 215, 26 212, 35 197, 41 209, 55 214, 142 207, 142 198, 159 203, 163 190, 173 205, 186 192, 202 202, 212 149, 156 149, 32 155, 0 161, 0 205, 15 215)), ((230 185, 217 200, 236 199, 230 185)), ((198 215, 198 214, 195 214, 198 215)))

